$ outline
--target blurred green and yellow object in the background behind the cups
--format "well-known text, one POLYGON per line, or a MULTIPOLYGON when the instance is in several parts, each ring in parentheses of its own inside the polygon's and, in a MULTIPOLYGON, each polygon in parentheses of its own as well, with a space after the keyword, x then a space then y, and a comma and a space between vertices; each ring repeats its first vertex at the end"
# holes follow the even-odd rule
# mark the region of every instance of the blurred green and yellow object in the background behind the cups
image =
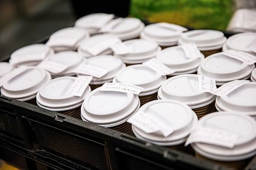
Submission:
POLYGON ((170 22, 195 29, 225 30, 233 14, 232 0, 132 0, 132 17, 170 22))

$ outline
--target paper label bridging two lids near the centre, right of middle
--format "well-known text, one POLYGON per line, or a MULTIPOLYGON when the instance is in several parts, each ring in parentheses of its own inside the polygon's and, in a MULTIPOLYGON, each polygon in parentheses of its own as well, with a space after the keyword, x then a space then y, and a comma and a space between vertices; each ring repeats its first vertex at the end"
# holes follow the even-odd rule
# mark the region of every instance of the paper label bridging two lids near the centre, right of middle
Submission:
POLYGON ((157 71, 162 76, 173 74, 175 71, 164 65, 162 62, 160 62, 158 59, 153 58, 151 60, 148 60, 144 63, 142 63, 155 71, 157 71))

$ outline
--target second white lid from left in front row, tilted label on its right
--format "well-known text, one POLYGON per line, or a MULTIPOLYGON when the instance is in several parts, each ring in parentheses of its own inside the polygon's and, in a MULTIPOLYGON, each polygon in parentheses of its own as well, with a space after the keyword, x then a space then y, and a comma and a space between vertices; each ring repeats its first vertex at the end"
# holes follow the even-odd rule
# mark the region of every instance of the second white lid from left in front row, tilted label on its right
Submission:
POLYGON ((76 79, 76 77, 60 77, 46 83, 36 95, 37 104, 52 111, 70 110, 81 106, 86 95, 91 92, 91 88, 88 86, 80 97, 67 95, 76 79))

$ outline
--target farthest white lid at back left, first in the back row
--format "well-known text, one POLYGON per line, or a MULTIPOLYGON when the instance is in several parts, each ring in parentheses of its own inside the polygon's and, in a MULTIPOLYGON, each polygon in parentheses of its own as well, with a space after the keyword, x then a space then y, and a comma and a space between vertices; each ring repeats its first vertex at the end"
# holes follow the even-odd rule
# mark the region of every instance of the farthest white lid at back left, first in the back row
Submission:
POLYGON ((86 15, 83 16, 79 19, 76 20, 75 22, 75 27, 80 27, 80 28, 84 28, 84 29, 88 29, 90 31, 94 30, 94 29, 99 29, 98 27, 96 27, 98 25, 97 22, 101 21, 102 25, 105 25, 106 23, 108 23, 108 20, 102 20, 102 18, 106 17, 106 16, 112 16, 112 18, 115 17, 114 14, 105 14, 105 13, 94 13, 94 14, 90 14, 90 15, 86 15))

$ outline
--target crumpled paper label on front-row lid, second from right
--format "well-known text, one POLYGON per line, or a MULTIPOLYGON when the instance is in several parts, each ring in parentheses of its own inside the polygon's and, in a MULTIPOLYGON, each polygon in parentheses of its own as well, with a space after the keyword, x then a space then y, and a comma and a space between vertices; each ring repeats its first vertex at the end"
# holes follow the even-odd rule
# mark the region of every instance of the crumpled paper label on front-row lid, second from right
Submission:
POLYGON ((158 133, 164 137, 173 133, 173 129, 163 124, 160 120, 150 114, 137 112, 127 120, 128 123, 136 126, 145 133, 158 133))

